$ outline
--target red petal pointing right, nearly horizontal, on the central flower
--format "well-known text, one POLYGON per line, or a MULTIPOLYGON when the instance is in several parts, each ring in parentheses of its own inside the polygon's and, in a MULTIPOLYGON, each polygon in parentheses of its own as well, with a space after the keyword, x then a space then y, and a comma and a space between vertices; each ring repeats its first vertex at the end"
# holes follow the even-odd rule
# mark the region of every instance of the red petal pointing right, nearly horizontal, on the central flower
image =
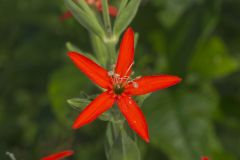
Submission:
POLYGON ((126 88, 126 93, 130 95, 142 95, 173 86, 180 81, 181 78, 170 75, 144 76, 134 80, 134 82, 137 83, 137 87, 133 87, 133 85, 130 84, 126 88))

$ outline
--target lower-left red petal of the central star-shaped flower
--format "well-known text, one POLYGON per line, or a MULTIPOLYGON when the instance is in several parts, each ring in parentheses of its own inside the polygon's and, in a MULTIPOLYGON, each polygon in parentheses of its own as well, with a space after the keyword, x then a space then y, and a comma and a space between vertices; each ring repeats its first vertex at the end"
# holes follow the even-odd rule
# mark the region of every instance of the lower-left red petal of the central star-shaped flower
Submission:
POLYGON ((82 127, 95 120, 100 114, 112 107, 115 98, 113 94, 104 92, 94 99, 78 116, 73 124, 73 129, 82 127))

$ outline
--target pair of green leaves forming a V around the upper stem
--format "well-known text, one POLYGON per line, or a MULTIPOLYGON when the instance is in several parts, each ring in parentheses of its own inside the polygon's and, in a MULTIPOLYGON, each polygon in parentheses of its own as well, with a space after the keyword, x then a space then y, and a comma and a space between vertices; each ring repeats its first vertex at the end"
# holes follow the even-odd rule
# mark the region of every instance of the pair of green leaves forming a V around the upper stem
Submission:
MULTIPOLYGON (((65 3, 76 20, 89 32, 102 39, 106 37, 102 22, 97 19, 95 13, 85 1, 78 1, 78 5, 72 0, 65 0, 65 3)), ((129 26, 138 11, 140 3, 141 0, 122 0, 113 27, 115 36, 119 37, 129 26)), ((105 17, 106 15, 103 18, 105 17)))

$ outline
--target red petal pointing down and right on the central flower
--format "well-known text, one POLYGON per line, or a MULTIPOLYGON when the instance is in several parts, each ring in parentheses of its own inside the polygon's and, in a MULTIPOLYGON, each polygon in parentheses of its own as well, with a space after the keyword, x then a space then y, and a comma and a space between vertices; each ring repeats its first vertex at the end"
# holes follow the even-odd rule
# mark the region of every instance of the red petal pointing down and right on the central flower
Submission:
POLYGON ((136 102, 131 97, 121 96, 118 100, 118 106, 129 126, 146 142, 149 142, 147 122, 136 102))

